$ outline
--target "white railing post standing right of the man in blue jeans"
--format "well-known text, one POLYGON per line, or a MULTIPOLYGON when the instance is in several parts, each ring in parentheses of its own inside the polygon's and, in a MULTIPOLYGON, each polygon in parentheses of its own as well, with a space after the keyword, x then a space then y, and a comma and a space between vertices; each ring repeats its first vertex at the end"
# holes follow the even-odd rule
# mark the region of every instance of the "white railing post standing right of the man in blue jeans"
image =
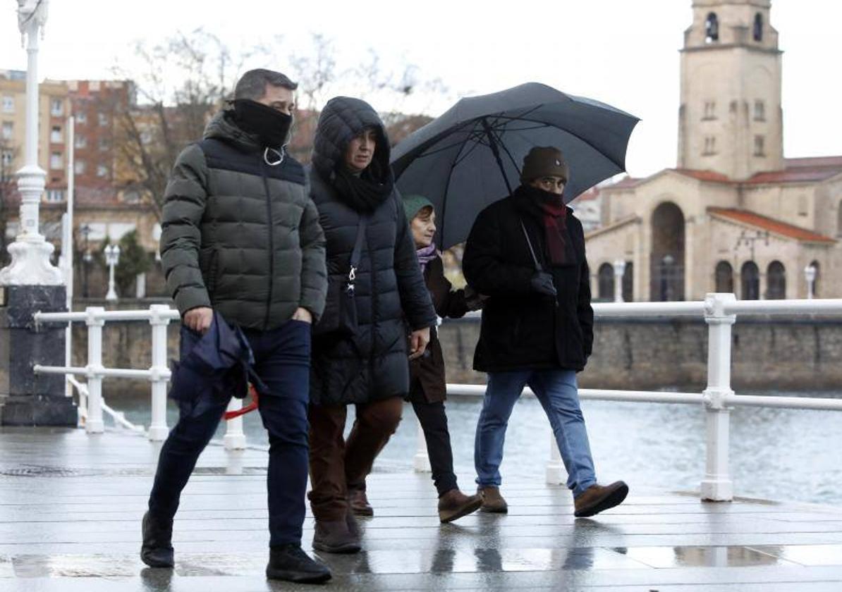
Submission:
POLYGON ((706 416, 706 466, 701 482, 701 499, 733 500, 733 483, 728 469, 728 440, 731 410, 727 398, 731 389, 731 325, 736 315, 726 315, 725 305, 736 300, 733 293, 709 293, 705 298, 707 338, 707 388, 703 396, 706 416))

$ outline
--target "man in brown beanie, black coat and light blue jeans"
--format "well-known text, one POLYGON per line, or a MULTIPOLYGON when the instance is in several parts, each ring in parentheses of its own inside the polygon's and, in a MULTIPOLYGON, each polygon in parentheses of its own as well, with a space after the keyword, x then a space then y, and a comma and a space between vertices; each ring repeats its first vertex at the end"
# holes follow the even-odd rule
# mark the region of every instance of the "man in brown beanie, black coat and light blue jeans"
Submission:
POLYGON ((574 515, 626 499, 622 482, 597 484, 576 373, 594 341, 581 223, 562 200, 568 165, 556 147, 526 155, 520 187, 483 209, 462 259, 467 282, 488 295, 474 368, 488 373, 474 463, 482 510, 506 512, 499 472, 509 416, 526 385, 550 420, 573 492, 574 515))

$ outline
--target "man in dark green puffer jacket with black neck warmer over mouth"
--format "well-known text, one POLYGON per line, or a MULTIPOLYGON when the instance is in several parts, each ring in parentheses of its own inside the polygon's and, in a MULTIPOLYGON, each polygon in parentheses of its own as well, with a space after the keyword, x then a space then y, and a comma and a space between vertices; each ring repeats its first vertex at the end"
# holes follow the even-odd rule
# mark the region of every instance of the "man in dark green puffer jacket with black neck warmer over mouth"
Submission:
MULTIPOLYGON (((246 72, 232 108, 182 151, 165 195, 161 261, 183 316, 182 341, 215 318, 238 325, 265 385, 258 409, 269 431, 267 577, 323 582, 330 571, 301 550, 301 526, 311 324, 324 309, 327 274, 304 170, 285 154, 295 89, 279 72, 246 72)), ((203 393, 199 405, 186 395, 171 394, 179 423, 161 450, 143 518, 141 558, 152 567, 173 567, 179 495, 231 399, 203 393)))

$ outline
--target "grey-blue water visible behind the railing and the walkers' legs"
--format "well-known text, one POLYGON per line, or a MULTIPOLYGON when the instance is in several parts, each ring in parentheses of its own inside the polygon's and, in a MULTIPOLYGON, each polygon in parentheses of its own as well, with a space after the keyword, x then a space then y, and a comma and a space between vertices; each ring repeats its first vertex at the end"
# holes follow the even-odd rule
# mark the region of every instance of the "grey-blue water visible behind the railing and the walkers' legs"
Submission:
MULTIPOLYGON (((745 392, 786 396, 842 397, 842 393, 745 392)), ((127 419, 149 420, 148 397, 109 397, 127 419)), ((473 437, 481 399, 451 397, 447 415, 456 474, 462 489, 473 487, 473 437)), ((601 482, 618 478, 664 490, 698 489, 705 469, 705 414, 699 405, 584 401, 591 450, 601 482)), ((352 408, 353 409, 353 408, 352 408)), ((353 411, 349 413, 349 425, 353 411)), ((168 425, 178 412, 168 404, 168 425)), ((244 417, 249 444, 267 446, 257 413, 244 417)), ((347 430, 346 430, 347 431, 347 430)), ((220 426, 217 437, 224 434, 220 426)), ((544 479, 550 451, 549 424, 541 404, 521 398, 509 421, 501 467, 507 479, 544 479)), ((412 469, 416 420, 409 404, 397 433, 381 452, 375 470, 412 469)), ((842 505, 842 413, 737 408, 731 413, 731 471, 734 493, 767 500, 842 505)), ((432 484, 430 485, 432 487, 432 484)))

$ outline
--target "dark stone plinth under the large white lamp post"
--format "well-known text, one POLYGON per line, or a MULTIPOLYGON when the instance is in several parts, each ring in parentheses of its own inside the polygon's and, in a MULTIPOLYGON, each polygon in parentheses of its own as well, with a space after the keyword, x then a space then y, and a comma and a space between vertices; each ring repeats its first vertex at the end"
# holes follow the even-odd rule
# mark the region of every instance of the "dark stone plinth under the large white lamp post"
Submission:
POLYGON ((67 311, 64 286, 0 287, 0 425, 77 426, 61 374, 32 372, 35 364, 64 366, 66 325, 35 326, 38 311, 67 311))

